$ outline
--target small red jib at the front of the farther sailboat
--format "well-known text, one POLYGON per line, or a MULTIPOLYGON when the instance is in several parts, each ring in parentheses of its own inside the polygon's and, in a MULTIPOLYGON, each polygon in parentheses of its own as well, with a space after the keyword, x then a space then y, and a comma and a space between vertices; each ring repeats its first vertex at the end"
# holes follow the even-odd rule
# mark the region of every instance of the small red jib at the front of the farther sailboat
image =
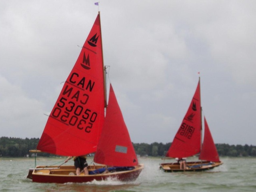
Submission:
POLYGON ((212 162, 220 162, 220 158, 217 152, 217 148, 214 144, 212 134, 204 117, 204 143, 199 156, 201 160, 207 160, 212 162))

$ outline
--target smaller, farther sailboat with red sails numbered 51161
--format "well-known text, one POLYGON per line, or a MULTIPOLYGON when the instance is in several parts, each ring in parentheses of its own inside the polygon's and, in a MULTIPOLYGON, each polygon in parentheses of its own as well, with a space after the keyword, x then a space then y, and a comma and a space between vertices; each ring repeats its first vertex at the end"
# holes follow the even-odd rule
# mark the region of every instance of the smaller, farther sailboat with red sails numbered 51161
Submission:
POLYGON ((223 164, 219 159, 218 152, 205 117, 204 142, 202 143, 200 78, 188 111, 168 152, 166 153, 166 158, 163 159, 176 158, 178 160, 185 160, 185 158, 195 155, 199 155, 200 161, 186 162, 186 166, 184 167, 181 167, 178 162, 162 163, 160 164, 160 169, 164 172, 204 171, 223 164))

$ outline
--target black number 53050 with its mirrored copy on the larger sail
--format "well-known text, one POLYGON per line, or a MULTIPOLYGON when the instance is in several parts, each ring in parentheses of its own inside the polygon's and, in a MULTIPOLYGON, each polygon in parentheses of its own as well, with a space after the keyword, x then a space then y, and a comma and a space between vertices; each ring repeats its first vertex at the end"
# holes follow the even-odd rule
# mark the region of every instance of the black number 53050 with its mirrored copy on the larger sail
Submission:
POLYGON ((62 122, 70 124, 71 126, 77 126, 80 130, 84 129, 85 132, 89 133, 97 118, 97 113, 92 112, 90 109, 84 109, 83 106, 76 106, 72 101, 66 102, 66 98, 60 98, 57 103, 58 107, 54 108, 52 111, 52 116, 60 119, 62 122))

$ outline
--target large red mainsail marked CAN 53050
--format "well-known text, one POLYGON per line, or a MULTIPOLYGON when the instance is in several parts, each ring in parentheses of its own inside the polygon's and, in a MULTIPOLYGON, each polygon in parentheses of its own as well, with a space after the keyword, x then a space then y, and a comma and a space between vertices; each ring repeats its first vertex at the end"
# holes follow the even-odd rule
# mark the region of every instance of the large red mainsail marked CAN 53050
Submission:
POLYGON ((100 15, 48 118, 37 149, 63 156, 96 151, 104 122, 100 15))

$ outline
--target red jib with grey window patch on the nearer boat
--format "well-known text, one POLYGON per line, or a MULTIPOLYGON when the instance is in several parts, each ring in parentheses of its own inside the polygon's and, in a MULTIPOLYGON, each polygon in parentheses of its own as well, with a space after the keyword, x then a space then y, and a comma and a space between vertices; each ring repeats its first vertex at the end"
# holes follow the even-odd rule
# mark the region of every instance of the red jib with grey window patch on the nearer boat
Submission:
POLYGON ((106 118, 94 162, 109 166, 138 165, 136 153, 111 84, 106 118))

